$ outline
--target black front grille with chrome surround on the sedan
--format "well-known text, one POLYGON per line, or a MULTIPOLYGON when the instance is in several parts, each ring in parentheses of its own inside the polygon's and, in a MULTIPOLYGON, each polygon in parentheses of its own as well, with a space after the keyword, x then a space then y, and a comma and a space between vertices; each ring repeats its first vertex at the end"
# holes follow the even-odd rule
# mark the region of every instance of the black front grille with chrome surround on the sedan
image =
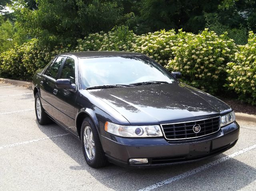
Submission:
POLYGON ((220 117, 208 118, 203 120, 162 124, 164 136, 168 140, 191 139, 206 136, 220 130, 220 117), (194 125, 200 125, 198 133, 193 131, 194 125))

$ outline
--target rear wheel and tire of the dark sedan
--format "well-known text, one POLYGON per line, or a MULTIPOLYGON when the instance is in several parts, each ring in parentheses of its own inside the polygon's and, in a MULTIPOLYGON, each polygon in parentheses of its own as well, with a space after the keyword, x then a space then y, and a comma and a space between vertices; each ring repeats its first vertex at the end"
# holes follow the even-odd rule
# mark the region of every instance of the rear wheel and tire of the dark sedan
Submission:
POLYGON ((42 107, 39 93, 36 93, 36 96, 35 96, 35 111, 36 111, 36 119, 40 125, 46 125, 52 122, 52 120, 50 120, 50 118, 48 117, 48 114, 46 114, 46 112, 44 111, 44 108, 42 107))

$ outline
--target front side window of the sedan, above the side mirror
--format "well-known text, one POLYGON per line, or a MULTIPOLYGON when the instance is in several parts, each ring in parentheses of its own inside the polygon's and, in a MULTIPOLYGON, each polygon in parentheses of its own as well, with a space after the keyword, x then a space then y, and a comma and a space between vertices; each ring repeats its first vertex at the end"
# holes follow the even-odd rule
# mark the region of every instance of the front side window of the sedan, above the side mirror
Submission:
POLYGON ((62 71, 60 73, 60 78, 70 79, 71 83, 75 83, 75 61, 72 58, 67 58, 62 71))

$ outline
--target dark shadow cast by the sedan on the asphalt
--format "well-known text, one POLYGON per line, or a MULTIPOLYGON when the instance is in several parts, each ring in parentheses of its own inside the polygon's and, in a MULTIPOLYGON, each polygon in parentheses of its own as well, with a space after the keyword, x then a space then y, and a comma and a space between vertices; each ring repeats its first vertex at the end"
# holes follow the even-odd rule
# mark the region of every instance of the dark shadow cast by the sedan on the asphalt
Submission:
MULTIPOLYGON (((66 133, 65 130, 56 124, 46 126, 38 124, 38 128, 48 137, 52 136, 50 128, 55 128, 55 132, 59 134, 66 133)), ((202 161, 150 169, 130 169, 111 163, 106 167, 94 169, 89 167, 84 160, 80 140, 72 135, 50 139, 78 163, 76 166, 70 166, 71 170, 87 171, 104 186, 116 191, 139 190, 226 156, 225 154, 220 154, 202 161)), ((256 169, 234 158, 210 167, 205 171, 207 171, 207 174, 202 171, 197 173, 197 175, 192 175, 175 182, 178 183, 178 187, 175 187, 174 190, 194 190, 191 184, 200 190, 206 191, 209 188, 216 188, 216 190, 239 190, 256 180, 256 169), (197 176, 200 178, 195 178, 197 176), (192 179, 192 182, 187 181, 188 179, 192 179)), ((86 177, 84 177, 84 181, 86 180, 86 177)), ((171 183, 168 186, 171 187, 175 183, 171 183)))

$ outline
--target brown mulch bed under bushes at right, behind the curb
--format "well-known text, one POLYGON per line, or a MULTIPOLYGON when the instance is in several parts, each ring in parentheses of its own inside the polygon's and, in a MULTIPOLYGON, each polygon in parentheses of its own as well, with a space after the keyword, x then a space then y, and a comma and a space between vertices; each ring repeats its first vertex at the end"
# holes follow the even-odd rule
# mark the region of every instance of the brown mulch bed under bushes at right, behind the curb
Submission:
POLYGON ((227 99, 223 97, 219 97, 219 98, 220 100, 226 102, 226 104, 228 104, 231 108, 233 108, 235 112, 256 115, 256 106, 242 103, 241 101, 236 99, 227 99))

